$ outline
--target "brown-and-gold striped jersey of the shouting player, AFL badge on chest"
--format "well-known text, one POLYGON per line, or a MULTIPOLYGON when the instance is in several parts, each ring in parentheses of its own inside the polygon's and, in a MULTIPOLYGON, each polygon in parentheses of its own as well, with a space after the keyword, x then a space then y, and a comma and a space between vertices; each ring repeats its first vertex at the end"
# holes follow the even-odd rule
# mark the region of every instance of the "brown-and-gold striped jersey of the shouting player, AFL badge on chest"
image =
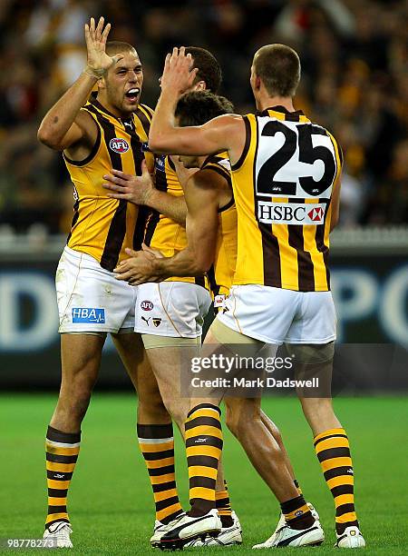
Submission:
POLYGON ((92 115, 98 126, 98 137, 92 153, 81 161, 63 156, 74 187, 74 215, 68 246, 92 255, 102 268, 112 272, 126 258, 126 247, 141 249, 147 207, 108 197, 102 188, 103 175, 112 168, 127 174, 141 175, 141 144, 148 140, 151 108, 140 104, 128 119, 110 114, 97 100, 91 99, 82 110, 92 115))

